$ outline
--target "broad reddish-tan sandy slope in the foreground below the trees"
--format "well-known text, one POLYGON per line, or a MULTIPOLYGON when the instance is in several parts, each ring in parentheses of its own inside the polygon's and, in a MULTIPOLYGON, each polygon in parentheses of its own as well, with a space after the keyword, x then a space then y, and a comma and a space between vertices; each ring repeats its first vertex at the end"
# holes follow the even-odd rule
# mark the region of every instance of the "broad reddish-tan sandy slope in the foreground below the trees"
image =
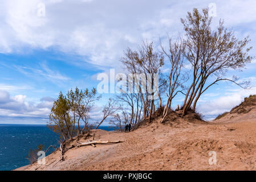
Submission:
POLYGON ((72 148, 59 163, 56 163, 60 155, 57 151, 46 157, 45 166, 34 164, 23 169, 255 170, 256 111, 243 115, 245 119, 235 118, 231 118, 234 122, 229 119, 229 123, 226 118, 217 123, 176 119, 172 125, 162 125, 156 119, 131 133, 96 130, 95 139, 124 142, 72 148), (210 151, 217 152, 216 165, 208 162, 210 151))

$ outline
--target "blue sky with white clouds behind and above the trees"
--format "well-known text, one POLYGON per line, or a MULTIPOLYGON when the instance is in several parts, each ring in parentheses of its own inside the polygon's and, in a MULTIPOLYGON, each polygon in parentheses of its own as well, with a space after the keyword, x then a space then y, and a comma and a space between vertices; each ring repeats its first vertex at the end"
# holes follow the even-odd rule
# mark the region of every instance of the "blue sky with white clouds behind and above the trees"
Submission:
MULTIPOLYGON (((213 10, 213 27, 224 19, 237 38, 250 35, 256 55, 256 1, 0 0, 0 123, 45 124, 60 91, 97 87, 97 75, 124 72, 120 57, 142 39, 183 35, 180 18, 194 7, 213 10), (216 10, 216 11, 215 11, 216 10)), ((168 67, 166 67, 168 69, 168 67)), ((221 83, 200 99, 197 111, 212 119, 256 94, 256 61, 243 72, 245 90, 221 83)), ((92 110, 94 121, 101 105, 92 110)), ((174 104, 181 104, 178 96, 174 104)))

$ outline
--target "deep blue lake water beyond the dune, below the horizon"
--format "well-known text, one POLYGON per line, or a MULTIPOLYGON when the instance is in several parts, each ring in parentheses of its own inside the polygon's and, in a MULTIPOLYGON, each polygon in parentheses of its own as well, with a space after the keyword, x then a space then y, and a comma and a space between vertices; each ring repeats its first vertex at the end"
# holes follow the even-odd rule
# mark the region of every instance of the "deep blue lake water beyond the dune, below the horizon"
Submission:
MULTIPOLYGON (((111 131, 113 127, 100 126, 99 129, 111 131)), ((41 143, 45 150, 50 145, 59 147, 58 140, 58 135, 46 125, 0 124, 0 171, 26 166, 30 148, 36 149, 41 143)))

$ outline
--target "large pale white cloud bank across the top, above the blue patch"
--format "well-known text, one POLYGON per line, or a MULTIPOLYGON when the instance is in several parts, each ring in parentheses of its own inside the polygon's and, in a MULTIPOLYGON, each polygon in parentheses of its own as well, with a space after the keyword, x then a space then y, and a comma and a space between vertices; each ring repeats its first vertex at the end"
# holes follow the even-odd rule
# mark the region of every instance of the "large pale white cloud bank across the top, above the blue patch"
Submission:
MULTIPOLYGON (((143 36, 157 41, 166 33, 182 33, 180 18, 193 7, 201 9, 211 2, 9 0, 0 7, 0 52, 54 47, 82 55, 97 66, 118 67, 127 46, 136 46, 143 36), (45 17, 37 16, 41 2, 46 5, 45 17)), ((256 20, 253 0, 215 3, 215 22, 224 18, 227 26, 238 26, 256 20)))

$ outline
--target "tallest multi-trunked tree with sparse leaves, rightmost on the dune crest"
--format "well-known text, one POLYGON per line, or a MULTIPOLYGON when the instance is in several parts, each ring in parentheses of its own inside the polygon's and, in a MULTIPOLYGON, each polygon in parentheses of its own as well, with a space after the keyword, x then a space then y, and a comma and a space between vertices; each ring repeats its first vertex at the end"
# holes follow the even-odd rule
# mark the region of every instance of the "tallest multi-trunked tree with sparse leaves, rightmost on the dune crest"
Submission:
POLYGON ((212 18, 208 11, 203 9, 200 14, 198 9, 193 9, 193 13, 188 12, 186 19, 181 19, 186 36, 184 56, 192 66, 192 82, 186 92, 182 116, 192 103, 192 109, 195 110, 202 93, 219 81, 230 81, 241 87, 248 84, 238 82, 237 77, 225 76, 229 69, 241 69, 250 63, 252 57, 248 52, 251 47, 247 47, 249 38, 235 38, 234 32, 224 27, 223 20, 220 20, 217 30, 212 30, 212 18))

